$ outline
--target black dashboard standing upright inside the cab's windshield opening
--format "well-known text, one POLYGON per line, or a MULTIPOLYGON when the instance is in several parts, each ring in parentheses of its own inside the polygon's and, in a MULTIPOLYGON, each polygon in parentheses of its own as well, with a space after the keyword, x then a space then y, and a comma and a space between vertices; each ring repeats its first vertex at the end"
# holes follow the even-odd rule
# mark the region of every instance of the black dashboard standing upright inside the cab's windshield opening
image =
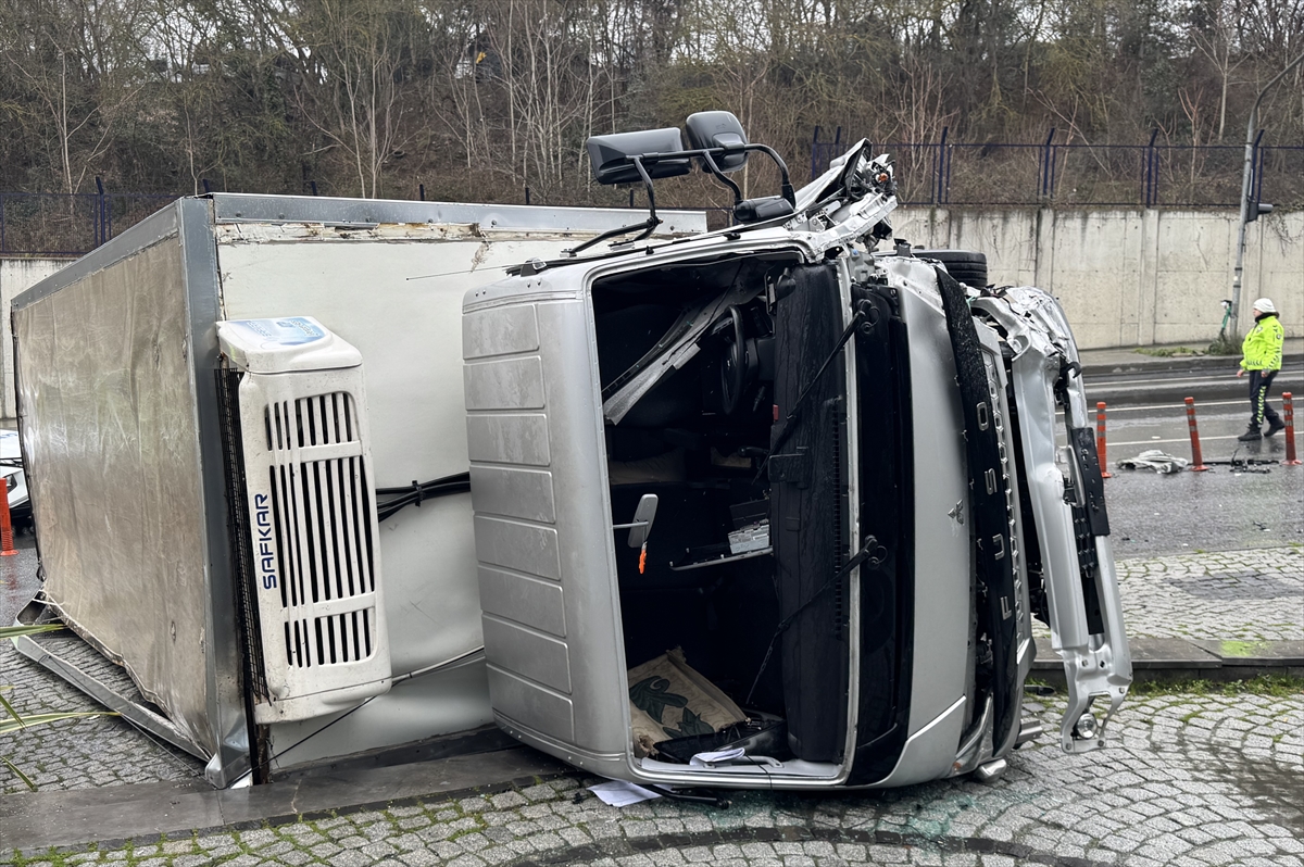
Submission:
MULTIPOLYGON (((795 286, 777 300, 775 317, 781 419, 844 329, 836 270, 816 265, 794 269, 792 276, 795 286)), ((841 760, 846 739, 848 579, 824 591, 848 549, 844 381, 841 365, 832 365, 786 422, 795 428, 776 424, 771 432, 780 448, 769 459, 780 618, 808 604, 780 644, 789 743, 807 761, 841 760)))

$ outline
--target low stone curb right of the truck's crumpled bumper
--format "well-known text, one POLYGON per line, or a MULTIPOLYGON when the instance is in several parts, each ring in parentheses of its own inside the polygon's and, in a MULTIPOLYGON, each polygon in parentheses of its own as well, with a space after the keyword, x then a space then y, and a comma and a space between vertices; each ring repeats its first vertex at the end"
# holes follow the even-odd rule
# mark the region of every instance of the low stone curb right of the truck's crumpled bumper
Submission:
MULTIPOLYGON (((1128 639, 1133 683, 1249 681, 1261 674, 1304 677, 1304 641, 1128 639)), ((1064 665, 1050 639, 1037 639, 1031 675, 1064 687, 1064 665)))

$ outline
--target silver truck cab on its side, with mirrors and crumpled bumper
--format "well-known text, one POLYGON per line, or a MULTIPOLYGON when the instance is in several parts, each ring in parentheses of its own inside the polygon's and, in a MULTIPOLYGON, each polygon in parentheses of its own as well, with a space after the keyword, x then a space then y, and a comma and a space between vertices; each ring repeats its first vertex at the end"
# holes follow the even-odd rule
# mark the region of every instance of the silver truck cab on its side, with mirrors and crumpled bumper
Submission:
POLYGON ((643 236, 653 205, 632 241, 464 299, 498 724, 644 785, 992 776, 1039 731, 1039 617, 1061 748, 1103 746, 1131 658, 1059 304, 973 254, 875 252, 895 181, 865 142, 793 192, 732 115, 687 133, 591 140, 595 175, 655 202, 657 177, 733 186, 764 151, 784 196, 670 241, 643 236))

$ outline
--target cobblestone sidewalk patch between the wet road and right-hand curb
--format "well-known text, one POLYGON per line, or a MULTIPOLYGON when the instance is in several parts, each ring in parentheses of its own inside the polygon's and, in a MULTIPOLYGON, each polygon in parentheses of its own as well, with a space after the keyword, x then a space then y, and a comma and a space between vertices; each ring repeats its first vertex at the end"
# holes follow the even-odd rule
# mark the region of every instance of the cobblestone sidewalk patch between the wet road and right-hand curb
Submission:
POLYGON ((1116 568, 1131 638, 1304 639, 1304 548, 1127 559, 1116 568))

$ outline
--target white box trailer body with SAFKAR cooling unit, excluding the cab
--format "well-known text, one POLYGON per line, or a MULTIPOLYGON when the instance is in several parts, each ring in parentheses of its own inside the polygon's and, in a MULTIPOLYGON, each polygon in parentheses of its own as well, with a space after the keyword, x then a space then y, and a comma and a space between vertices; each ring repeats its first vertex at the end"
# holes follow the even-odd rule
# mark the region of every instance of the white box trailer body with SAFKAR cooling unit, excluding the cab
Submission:
MULTIPOLYGON (((467 289, 627 220, 213 194, 170 205, 17 299, 44 600, 156 707, 100 698, 210 761, 219 786, 249 769, 254 731, 276 771, 490 722, 471 497, 377 522, 374 489, 464 478, 467 289), (224 326, 226 356, 224 321, 253 321, 224 326), (329 339, 304 342, 314 326, 329 339), (241 422, 267 447, 232 450, 241 422), (282 489, 280 506, 299 510, 282 515, 296 527, 276 528, 278 553, 301 548, 284 565, 293 580, 263 570, 282 570, 259 536, 273 467, 304 467, 309 482, 282 489), (278 579, 280 610, 259 606, 254 591, 278 579), (246 683, 261 691, 249 705, 246 683)), ((702 213, 677 213, 662 231, 704 228, 702 213)))

